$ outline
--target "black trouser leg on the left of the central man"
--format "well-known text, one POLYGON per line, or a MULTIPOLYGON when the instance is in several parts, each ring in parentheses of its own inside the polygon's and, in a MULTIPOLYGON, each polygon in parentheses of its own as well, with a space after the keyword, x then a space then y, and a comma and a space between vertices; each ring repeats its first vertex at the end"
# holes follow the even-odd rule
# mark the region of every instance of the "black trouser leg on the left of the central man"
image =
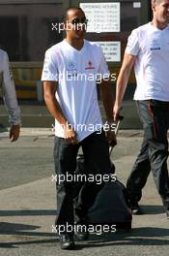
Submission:
MULTIPOLYGON (((73 180, 68 181, 67 175, 74 174, 76 155, 79 144, 69 144, 62 138, 55 137, 54 163, 55 172, 62 181, 57 181, 57 209, 56 225, 73 225, 73 180), (64 179, 64 180, 63 180, 64 179)), ((64 233, 64 232, 63 232, 64 233)), ((65 232, 66 233, 66 232, 65 232)))

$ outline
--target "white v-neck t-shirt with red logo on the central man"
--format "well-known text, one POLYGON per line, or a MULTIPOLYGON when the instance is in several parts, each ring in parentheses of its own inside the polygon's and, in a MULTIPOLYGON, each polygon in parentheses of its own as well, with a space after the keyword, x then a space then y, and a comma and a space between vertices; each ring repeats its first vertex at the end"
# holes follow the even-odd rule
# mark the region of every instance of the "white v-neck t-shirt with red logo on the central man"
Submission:
MULTIPOLYGON (((96 80, 109 74, 101 48, 84 40, 80 50, 64 40, 45 52, 42 80, 58 81, 56 99, 80 142, 102 126, 96 80)), ((64 138, 55 119, 55 135, 64 138)))

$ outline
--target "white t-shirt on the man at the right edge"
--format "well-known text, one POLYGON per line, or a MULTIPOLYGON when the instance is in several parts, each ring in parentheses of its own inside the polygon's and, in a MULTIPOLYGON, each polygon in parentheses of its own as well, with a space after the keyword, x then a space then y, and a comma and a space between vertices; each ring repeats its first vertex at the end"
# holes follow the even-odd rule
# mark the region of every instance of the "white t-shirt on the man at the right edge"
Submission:
POLYGON ((134 100, 169 101, 169 26, 160 30, 147 23, 128 37, 126 52, 137 55, 134 100))

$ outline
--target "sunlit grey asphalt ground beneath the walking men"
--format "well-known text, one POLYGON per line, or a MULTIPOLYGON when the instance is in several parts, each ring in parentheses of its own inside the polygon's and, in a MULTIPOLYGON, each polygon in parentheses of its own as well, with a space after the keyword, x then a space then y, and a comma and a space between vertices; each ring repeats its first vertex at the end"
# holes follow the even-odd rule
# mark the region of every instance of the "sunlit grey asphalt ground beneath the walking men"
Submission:
MULTIPOLYGON (((0 132, 0 255, 140 255, 167 256, 169 220, 163 212, 152 174, 140 202, 143 215, 133 216, 130 232, 90 235, 74 251, 62 251, 52 232, 56 215, 52 159, 53 131, 22 128, 10 143, 0 132)), ((120 130, 111 156, 116 174, 126 184, 142 142, 140 130, 120 130)))

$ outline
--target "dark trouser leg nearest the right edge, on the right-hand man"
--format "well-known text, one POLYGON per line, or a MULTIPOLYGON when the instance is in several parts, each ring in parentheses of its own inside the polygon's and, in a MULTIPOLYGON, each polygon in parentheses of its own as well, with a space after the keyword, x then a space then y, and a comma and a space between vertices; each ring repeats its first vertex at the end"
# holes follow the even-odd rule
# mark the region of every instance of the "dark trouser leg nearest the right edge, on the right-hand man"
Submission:
POLYGON ((149 139, 149 157, 155 186, 165 209, 169 209, 169 176, 167 168, 169 103, 152 100, 150 112, 154 120, 154 133, 149 139))

